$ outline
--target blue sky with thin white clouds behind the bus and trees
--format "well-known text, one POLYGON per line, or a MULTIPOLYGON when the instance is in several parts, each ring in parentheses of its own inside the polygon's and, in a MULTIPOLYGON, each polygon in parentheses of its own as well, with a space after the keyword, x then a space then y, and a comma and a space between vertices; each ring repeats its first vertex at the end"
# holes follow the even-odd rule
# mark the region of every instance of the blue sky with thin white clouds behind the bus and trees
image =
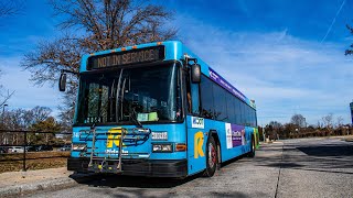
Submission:
MULTIPOLYGON (((32 1, 15 18, 0 20, 0 82, 15 95, 10 108, 41 105, 57 113, 56 85, 35 87, 19 63, 39 41, 60 35, 46 1, 32 1)), ((259 124, 289 122, 301 113, 309 124, 328 113, 350 123, 353 43, 352 0, 160 0, 175 13, 167 25, 203 61, 255 99, 259 124), (330 28, 331 26, 331 28, 330 28)))

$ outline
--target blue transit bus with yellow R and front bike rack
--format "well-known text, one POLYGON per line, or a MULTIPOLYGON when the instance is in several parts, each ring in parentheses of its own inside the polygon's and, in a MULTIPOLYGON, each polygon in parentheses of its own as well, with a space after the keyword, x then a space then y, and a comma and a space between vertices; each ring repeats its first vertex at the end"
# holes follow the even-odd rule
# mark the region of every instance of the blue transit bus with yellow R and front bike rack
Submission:
POLYGON ((257 146, 255 101, 181 42, 83 56, 68 170, 211 177, 257 146))

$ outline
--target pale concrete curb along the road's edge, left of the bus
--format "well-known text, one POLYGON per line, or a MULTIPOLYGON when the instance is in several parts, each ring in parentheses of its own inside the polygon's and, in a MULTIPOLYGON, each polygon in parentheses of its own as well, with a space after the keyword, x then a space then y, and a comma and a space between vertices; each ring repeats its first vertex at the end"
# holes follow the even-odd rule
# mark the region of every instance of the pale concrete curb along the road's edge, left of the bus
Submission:
POLYGON ((26 194, 38 193, 40 190, 56 190, 66 187, 74 187, 78 185, 79 182, 85 182, 89 179, 92 179, 92 175, 54 178, 51 180, 43 180, 34 184, 8 186, 0 188, 0 197, 23 196, 26 194))

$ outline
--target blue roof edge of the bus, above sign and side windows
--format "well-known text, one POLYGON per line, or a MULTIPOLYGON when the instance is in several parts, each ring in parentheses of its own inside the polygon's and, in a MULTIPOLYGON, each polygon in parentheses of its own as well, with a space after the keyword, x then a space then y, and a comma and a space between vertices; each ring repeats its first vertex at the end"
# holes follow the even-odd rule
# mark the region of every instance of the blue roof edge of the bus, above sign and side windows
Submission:
MULTIPOLYGON (((236 89, 232 84, 229 84, 226 79, 224 79, 220 74, 217 74, 214 69, 212 69, 205 62, 203 62, 199 56, 196 56, 194 53, 192 53, 185 45, 183 45, 180 41, 165 41, 165 42, 153 42, 153 43, 147 43, 147 44, 140 44, 140 45, 133 45, 133 46, 126 46, 120 48, 114 48, 108 51, 101 51, 96 52, 92 54, 84 55, 81 63, 81 69, 79 72, 87 72, 88 67, 88 59, 96 56, 108 56, 110 54, 131 54, 132 52, 141 52, 143 48, 152 48, 157 46, 164 46, 163 48, 163 56, 158 57, 161 58, 159 61, 182 61, 186 56, 197 58, 197 64, 201 65, 201 72, 205 76, 207 76, 210 79, 218 84, 224 89, 232 92, 234 96, 243 100, 244 102, 248 103, 252 108, 256 109, 255 102, 249 100, 243 92, 240 92, 238 89, 236 89), (129 53, 131 52, 131 53, 129 53)), ((158 51, 158 50, 156 50, 158 51)), ((139 58, 138 61, 141 61, 139 58)), ((142 58, 143 61, 143 58, 142 58)), ((129 64, 129 63, 128 63, 129 64)))

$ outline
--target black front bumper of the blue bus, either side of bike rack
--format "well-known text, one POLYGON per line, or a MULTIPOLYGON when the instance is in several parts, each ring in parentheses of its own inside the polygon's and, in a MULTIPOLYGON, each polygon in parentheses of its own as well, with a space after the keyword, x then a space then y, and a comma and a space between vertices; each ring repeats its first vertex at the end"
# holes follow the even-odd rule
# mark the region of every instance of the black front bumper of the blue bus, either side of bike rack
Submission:
MULTIPOLYGON (((67 169, 88 173, 88 157, 69 157, 67 169)), ((186 177, 186 160, 122 160, 122 175, 148 177, 186 177)))

